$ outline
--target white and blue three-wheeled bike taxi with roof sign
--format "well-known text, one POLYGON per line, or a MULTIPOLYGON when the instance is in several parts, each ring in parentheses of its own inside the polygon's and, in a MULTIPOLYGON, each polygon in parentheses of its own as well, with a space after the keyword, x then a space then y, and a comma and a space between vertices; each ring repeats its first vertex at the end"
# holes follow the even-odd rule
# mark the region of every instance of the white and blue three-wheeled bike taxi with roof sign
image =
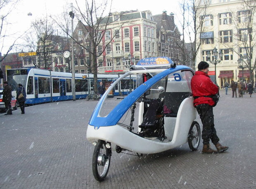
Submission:
POLYGON ((96 180, 106 177, 112 149, 153 154, 188 142, 192 151, 197 150, 200 127, 194 121, 193 75, 190 67, 176 66, 168 57, 155 57, 140 60, 112 83, 92 113, 86 134, 95 145, 92 170, 96 180), (129 85, 137 88, 116 99, 112 108, 108 94, 128 76, 129 85))

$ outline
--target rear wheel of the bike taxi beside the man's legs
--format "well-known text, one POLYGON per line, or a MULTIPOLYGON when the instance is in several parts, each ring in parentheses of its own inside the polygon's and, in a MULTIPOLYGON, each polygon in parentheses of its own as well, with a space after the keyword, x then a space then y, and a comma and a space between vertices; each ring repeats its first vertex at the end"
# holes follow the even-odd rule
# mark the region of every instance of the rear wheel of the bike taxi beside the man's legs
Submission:
POLYGON ((192 151, 196 151, 200 143, 201 131, 197 121, 193 121, 188 133, 188 145, 192 151))

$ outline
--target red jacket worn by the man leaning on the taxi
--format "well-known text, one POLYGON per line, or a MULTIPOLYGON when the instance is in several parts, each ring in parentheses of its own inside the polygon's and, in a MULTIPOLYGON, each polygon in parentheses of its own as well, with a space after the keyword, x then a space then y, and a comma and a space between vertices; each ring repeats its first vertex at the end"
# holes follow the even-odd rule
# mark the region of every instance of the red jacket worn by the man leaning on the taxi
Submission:
POLYGON ((194 106, 199 104, 209 104, 213 106, 215 103, 211 97, 203 97, 215 95, 218 93, 219 88, 211 81, 211 78, 203 71, 196 71, 195 75, 191 79, 191 90, 193 97, 199 97, 194 99, 194 106))

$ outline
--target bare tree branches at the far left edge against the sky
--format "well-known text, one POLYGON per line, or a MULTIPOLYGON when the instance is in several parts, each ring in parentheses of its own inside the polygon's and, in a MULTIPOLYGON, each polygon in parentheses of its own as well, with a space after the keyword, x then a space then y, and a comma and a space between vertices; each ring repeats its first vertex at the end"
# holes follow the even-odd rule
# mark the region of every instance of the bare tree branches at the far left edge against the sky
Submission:
MULTIPOLYGON (((18 2, 19 0, 0 0, 0 52, 2 52, 3 48, 6 46, 5 43, 7 42, 7 40, 9 40, 10 37, 14 36, 14 33, 7 33, 8 26, 10 25, 10 23, 8 22, 8 17, 11 15, 12 11, 15 8, 15 5, 17 5, 18 2)), ((15 38, 14 40, 11 40, 11 45, 7 47, 7 52, 5 53, 5 55, 3 57, 0 56, 0 62, 5 59, 7 54, 12 50, 12 47, 14 47, 16 41, 20 37, 21 36, 15 38)))

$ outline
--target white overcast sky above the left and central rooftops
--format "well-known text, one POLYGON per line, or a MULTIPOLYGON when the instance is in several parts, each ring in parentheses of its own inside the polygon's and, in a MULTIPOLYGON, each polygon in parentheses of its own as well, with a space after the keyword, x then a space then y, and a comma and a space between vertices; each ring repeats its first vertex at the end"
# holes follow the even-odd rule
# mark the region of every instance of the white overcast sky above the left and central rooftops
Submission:
MULTIPOLYGON (((83 5, 85 0, 78 0, 79 5, 83 5)), ((89 0, 90 1, 90 0, 89 0)), ((96 0, 99 2, 99 0, 96 0)), ((110 1, 109 1, 110 2, 110 1)), ((63 12, 63 7, 71 7, 76 4, 75 0, 20 0, 16 5, 14 11, 9 15, 8 22, 8 31, 11 33, 11 37, 8 38, 8 41, 5 40, 5 47, 0 49, 2 54, 7 52, 7 47, 13 42, 17 36, 22 35, 31 27, 31 22, 40 17, 47 15, 57 15, 63 12), (28 13, 31 13, 32 16, 28 16, 28 13), (9 42, 9 43, 7 43, 9 42)), ((163 10, 167 11, 167 14, 178 13, 178 1, 177 0, 157 0, 152 2, 149 0, 113 0, 111 12, 120 12, 127 10, 150 10, 153 15, 162 14, 163 10)), ((0 13, 1 14, 1 13, 0 13)), ((175 21, 175 24, 178 24, 178 20, 175 21)), ((75 26, 74 26, 75 27, 75 26)), ((0 41, 1 43, 1 41, 0 41)), ((19 41, 19 43, 22 43, 19 41)), ((0 44, 2 46, 2 44, 0 44)), ((14 48, 12 52, 19 51, 17 48, 14 48)))

